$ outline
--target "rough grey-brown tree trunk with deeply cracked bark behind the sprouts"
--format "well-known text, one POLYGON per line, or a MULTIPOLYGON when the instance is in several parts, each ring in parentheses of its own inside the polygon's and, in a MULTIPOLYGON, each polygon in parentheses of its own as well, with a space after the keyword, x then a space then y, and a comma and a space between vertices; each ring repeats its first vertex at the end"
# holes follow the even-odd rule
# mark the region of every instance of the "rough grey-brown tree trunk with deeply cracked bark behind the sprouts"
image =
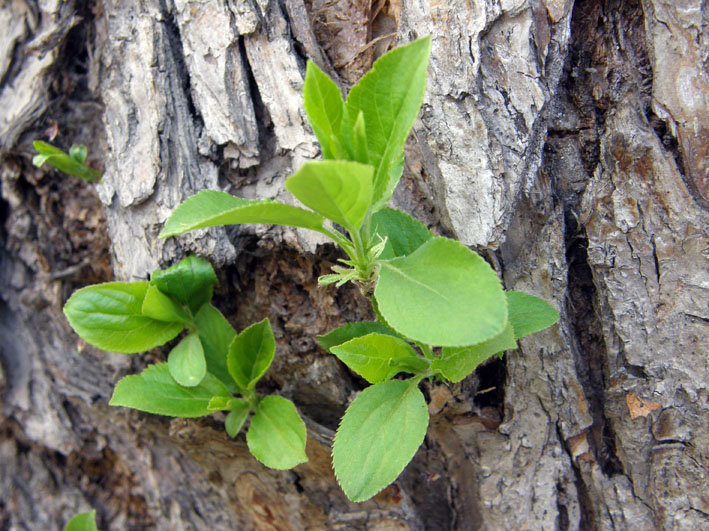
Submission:
POLYGON ((709 526, 709 5, 702 0, 8 0, 0 7, 0 529, 701 529, 709 526), (204 189, 292 201, 319 156, 307 59, 347 89, 431 34, 393 203, 483 254, 557 326, 460 384, 397 482, 350 503, 329 443, 359 380, 314 342, 368 318, 320 288, 312 233, 227 227, 167 241, 204 189), (92 185, 31 166, 31 141, 89 146, 92 185), (145 279, 187 252, 215 304, 263 317, 267 386, 295 401, 310 461, 274 471, 222 420, 109 408, 166 351, 82 345, 71 292, 145 279))

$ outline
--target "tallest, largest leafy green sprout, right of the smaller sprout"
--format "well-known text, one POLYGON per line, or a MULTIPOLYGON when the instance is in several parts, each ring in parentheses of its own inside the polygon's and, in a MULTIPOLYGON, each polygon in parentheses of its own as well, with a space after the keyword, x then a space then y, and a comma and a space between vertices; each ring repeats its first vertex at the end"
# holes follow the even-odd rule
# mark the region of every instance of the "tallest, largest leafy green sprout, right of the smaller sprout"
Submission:
POLYGON ((285 184, 307 208, 205 191, 180 205, 161 233, 289 225, 325 234, 347 254, 319 282, 358 283, 378 321, 348 324, 319 341, 372 384, 347 409, 332 452, 337 479, 357 502, 393 482, 423 441, 422 379, 458 382, 558 319, 543 300, 505 292, 488 263, 460 242, 386 206, 423 102, 430 46, 424 38, 384 55, 346 99, 308 63, 305 111, 325 160, 306 162, 285 184))

